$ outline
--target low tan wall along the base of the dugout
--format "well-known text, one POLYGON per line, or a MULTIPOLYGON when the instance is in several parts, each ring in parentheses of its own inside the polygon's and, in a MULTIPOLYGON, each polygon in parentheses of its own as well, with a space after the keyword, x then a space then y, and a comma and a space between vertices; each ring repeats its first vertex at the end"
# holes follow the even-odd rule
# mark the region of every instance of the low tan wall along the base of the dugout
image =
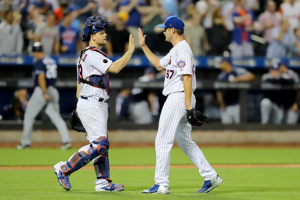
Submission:
MULTIPOLYGON (((152 130, 119 130, 108 131, 111 143, 154 143, 157 131, 152 130)), ((69 130, 72 142, 86 143, 83 133, 69 130)), ((1 143, 19 143, 22 131, 1 130, 1 143)), ((193 141, 197 144, 299 144, 300 131, 193 131, 193 141)), ((61 143, 57 131, 36 130, 32 133, 33 143, 61 143)))

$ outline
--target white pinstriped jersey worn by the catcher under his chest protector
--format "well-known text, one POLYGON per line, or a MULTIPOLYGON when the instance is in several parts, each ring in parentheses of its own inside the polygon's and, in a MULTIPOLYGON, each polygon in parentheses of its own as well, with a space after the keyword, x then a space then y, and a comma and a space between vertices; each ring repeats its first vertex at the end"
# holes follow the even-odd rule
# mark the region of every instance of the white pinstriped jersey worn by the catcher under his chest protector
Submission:
MULTIPOLYGON (((89 48, 89 47, 87 47, 89 48)), ((87 49, 86 48, 86 49, 87 49)), ((103 52, 102 52, 103 53, 103 52)), ((94 50, 87 50, 83 53, 81 60, 77 60, 77 79, 79 82, 79 76, 81 75, 83 79, 89 80, 91 75, 102 75, 107 73, 108 67, 111 66, 112 61, 109 60, 104 55, 94 50), (80 61, 80 66, 79 66, 80 61), (81 68, 80 68, 81 67, 81 68), (78 70, 79 69, 79 70, 78 70)), ((93 87, 88 84, 80 84, 79 96, 96 96, 103 99, 108 99, 109 96, 107 91, 102 88, 93 87)))

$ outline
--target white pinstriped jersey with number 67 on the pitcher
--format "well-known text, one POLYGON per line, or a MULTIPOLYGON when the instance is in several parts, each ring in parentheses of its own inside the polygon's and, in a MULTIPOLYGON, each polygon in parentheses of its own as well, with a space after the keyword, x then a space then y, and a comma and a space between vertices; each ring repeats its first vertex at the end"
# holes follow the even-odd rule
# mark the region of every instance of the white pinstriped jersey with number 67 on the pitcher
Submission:
POLYGON ((159 60, 160 65, 166 69, 163 95, 183 91, 184 74, 192 75, 192 89, 196 89, 195 62, 189 44, 183 40, 175 45, 170 52, 159 60))

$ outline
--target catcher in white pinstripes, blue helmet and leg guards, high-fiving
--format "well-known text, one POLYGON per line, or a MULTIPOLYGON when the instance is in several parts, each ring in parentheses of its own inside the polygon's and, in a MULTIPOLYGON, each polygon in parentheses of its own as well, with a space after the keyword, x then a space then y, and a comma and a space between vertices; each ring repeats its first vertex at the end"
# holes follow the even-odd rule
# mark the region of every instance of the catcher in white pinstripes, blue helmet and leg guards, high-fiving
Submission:
POLYGON ((110 179, 106 100, 109 98, 109 72, 118 73, 128 64, 134 40, 130 35, 128 51, 121 59, 114 63, 109 60, 100 49, 107 44, 105 27, 111 22, 101 16, 91 16, 85 22, 82 41, 88 41, 89 47, 81 51, 77 61, 77 113, 90 144, 81 147, 66 162, 53 166, 58 182, 66 190, 71 189, 69 176, 91 161, 96 173, 96 191, 124 190, 124 185, 113 184, 110 179))

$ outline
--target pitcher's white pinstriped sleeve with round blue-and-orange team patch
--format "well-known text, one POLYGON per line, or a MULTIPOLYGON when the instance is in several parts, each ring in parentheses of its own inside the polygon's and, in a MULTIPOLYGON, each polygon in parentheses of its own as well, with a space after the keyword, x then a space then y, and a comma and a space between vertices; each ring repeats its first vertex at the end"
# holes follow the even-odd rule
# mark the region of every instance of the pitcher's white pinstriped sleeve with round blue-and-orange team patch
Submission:
POLYGON ((178 50, 176 53, 177 75, 193 75, 193 57, 188 51, 178 50))

